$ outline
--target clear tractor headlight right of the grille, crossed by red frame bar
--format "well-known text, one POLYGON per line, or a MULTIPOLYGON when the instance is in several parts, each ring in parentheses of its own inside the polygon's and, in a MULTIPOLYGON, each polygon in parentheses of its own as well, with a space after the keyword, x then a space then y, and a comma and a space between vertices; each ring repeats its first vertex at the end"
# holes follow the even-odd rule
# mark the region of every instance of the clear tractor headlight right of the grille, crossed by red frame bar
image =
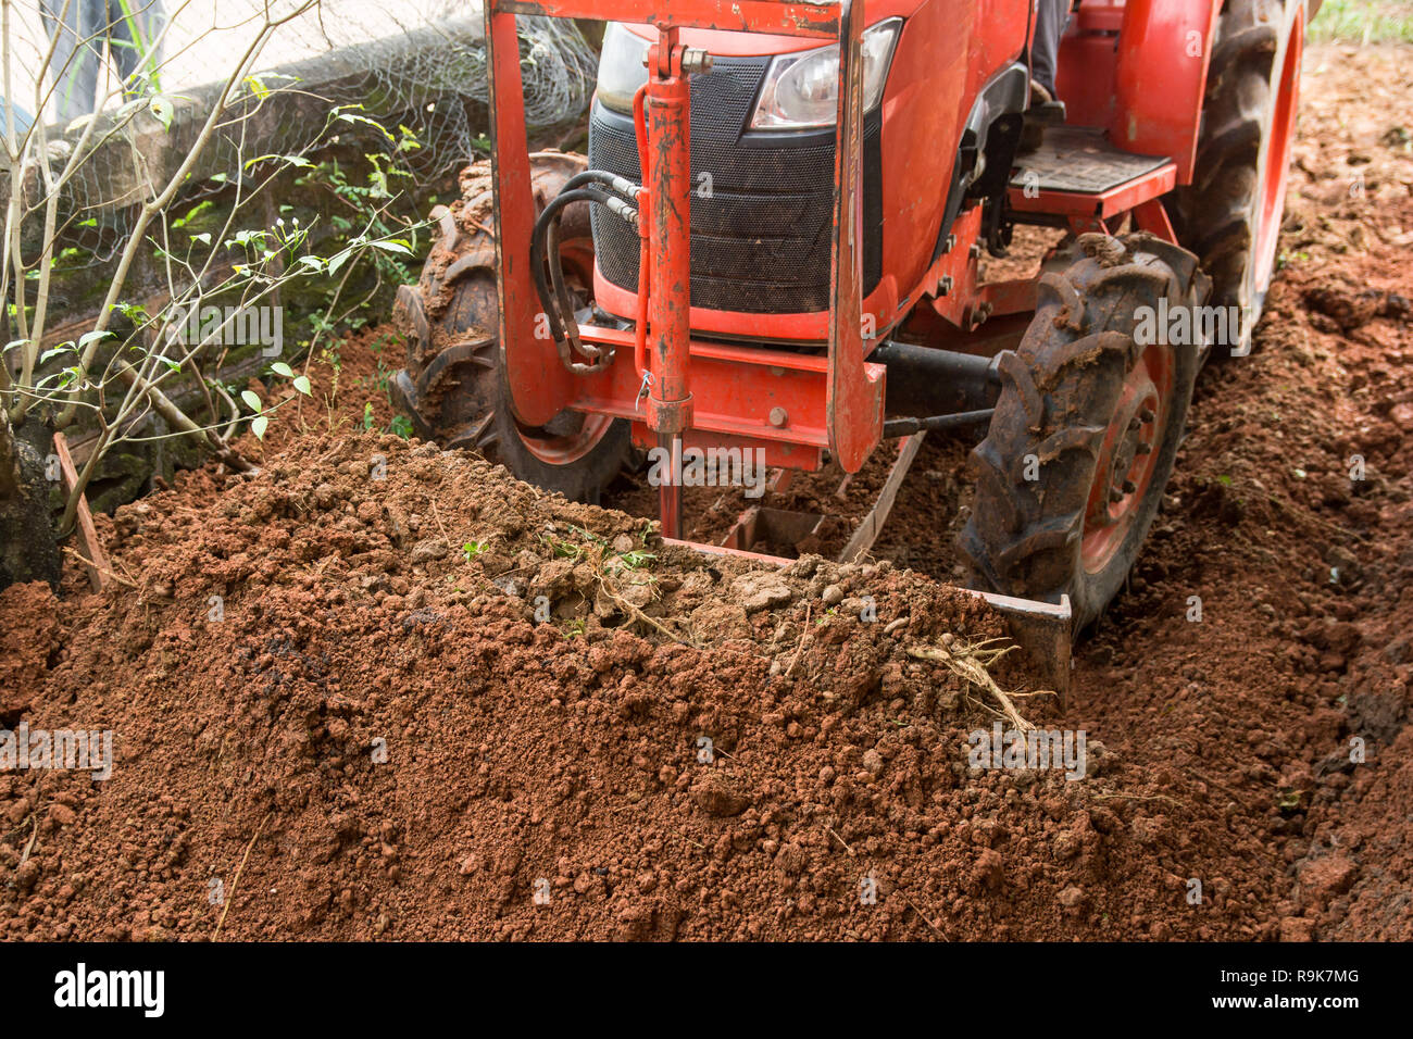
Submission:
MULTIPOLYGON (((887 18, 863 30, 863 110, 883 100, 887 66, 893 61, 901 18, 887 18)), ((606 52, 606 47, 605 47, 606 52)), ((803 130, 832 126, 839 109, 839 45, 781 54, 770 62, 760 102, 750 120, 755 130, 803 130)))

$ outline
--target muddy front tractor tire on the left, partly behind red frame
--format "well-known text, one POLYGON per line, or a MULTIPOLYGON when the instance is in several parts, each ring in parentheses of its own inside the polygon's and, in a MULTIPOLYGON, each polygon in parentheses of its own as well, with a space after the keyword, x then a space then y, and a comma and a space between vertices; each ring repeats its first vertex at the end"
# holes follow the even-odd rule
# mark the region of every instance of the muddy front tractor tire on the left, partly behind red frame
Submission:
MULTIPOLYGON (((588 168, 584 155, 560 151, 536 153, 530 164, 537 209, 588 168)), ((516 420, 499 341, 490 164, 465 170, 461 187, 459 202, 432 213, 438 239, 421 280, 397 293, 407 362, 393 376, 393 400, 422 440, 479 451, 528 483, 596 503, 629 459, 629 425, 577 411, 540 427, 516 420)), ((567 208, 560 249, 569 287, 586 298, 593 273, 588 204, 567 208)))

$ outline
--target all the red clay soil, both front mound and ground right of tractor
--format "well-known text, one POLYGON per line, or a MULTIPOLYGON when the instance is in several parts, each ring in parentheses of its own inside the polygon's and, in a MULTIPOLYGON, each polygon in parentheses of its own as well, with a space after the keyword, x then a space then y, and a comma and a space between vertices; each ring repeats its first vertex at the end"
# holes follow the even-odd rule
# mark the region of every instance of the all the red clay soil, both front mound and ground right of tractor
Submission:
POLYGON ((1311 52, 1258 352, 1204 375, 1068 704, 1019 701, 1082 780, 969 769, 995 701, 909 654, 1000 632, 933 580, 962 441, 879 547, 926 573, 777 573, 307 403, 257 476, 99 517, 105 594, 0 594, 0 725, 116 758, 0 773, 0 933, 1413 936, 1410 68, 1311 52))

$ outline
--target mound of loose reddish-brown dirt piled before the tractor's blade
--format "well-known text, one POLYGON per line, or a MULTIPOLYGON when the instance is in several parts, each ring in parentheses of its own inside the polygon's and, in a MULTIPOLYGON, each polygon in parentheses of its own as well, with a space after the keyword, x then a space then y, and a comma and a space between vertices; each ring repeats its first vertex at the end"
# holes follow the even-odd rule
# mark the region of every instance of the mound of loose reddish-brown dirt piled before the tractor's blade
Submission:
POLYGON ((982 694, 906 649, 998 635, 971 597, 664 548, 393 437, 218 483, 119 510, 134 587, 71 589, 25 718, 116 762, 0 777, 10 937, 1272 933, 1202 785, 1092 736, 1078 782, 968 768, 982 694))

